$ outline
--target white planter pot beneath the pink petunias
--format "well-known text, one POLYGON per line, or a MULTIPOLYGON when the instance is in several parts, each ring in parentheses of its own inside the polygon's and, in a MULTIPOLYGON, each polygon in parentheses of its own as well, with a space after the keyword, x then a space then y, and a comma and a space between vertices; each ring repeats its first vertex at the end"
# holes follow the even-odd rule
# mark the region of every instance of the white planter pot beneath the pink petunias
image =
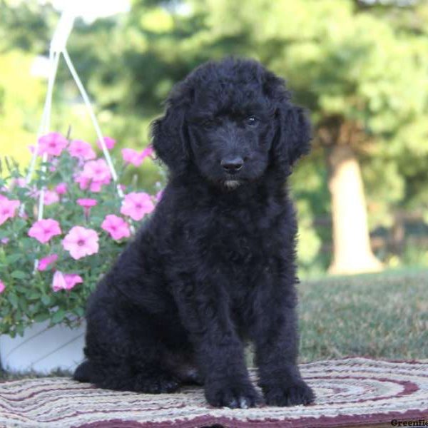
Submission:
POLYGON ((48 321, 36 322, 25 330, 23 337, 1 335, 1 367, 10 372, 40 374, 56 369, 74 370, 83 361, 85 325, 76 329, 48 325, 48 321))

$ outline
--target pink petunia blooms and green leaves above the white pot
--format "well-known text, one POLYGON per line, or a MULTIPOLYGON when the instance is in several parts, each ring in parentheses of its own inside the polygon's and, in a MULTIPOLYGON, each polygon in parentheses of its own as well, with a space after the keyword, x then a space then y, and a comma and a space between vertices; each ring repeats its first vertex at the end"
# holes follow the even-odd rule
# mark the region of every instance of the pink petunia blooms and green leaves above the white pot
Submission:
MULTIPOLYGON (((49 133, 38 150, 48 156, 31 184, 14 163, 0 165, 0 332, 11 337, 34 322, 79 325, 88 295, 157 200, 126 185, 121 198, 89 143, 49 133)), ((113 160, 120 175, 151 149, 122 156, 113 160)))

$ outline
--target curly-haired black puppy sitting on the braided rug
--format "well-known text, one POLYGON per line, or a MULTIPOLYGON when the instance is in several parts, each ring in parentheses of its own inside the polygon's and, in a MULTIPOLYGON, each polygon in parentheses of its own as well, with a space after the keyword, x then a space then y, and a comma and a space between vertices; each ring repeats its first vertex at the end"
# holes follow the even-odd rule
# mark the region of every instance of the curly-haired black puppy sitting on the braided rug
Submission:
POLYGON ((149 393, 201 382, 213 406, 252 407, 252 340, 265 402, 309 404, 285 186, 310 149, 302 109, 260 63, 228 58, 178 83, 152 133, 168 185, 88 302, 87 360, 74 378, 149 393))

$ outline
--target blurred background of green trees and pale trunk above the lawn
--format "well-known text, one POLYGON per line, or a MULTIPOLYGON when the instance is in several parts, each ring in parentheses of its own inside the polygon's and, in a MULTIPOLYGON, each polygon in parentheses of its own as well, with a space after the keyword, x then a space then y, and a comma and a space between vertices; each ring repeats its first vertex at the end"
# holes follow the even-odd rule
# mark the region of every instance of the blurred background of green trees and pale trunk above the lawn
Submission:
MULTIPOLYGON (((80 0, 79 0, 80 1, 80 0)), ((79 2, 78 1, 78 2, 79 2)), ((77 2, 77 3, 78 3, 77 2)), ((106 136, 148 145, 173 84, 209 59, 256 58, 311 112, 313 150, 292 175, 302 277, 428 266, 428 2, 80 1, 68 52, 106 136)), ((0 155, 23 168, 66 0, 0 0, 0 155)), ((52 130, 95 143, 63 62, 52 130)), ((138 170, 152 191, 156 163, 138 170)))

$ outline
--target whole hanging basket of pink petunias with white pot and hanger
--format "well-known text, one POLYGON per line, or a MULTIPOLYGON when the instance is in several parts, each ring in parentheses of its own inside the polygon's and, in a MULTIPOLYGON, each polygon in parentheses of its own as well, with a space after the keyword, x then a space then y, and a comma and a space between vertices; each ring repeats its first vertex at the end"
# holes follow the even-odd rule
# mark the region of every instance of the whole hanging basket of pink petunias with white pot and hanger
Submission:
POLYGON ((111 157, 115 141, 103 137, 66 51, 75 15, 70 4, 51 41, 39 138, 26 175, 0 158, 0 357, 14 371, 71 369, 81 361, 83 330, 71 329, 81 328, 88 296, 161 194, 120 184, 128 165, 140 166, 152 150, 124 148, 120 160, 111 157), (93 123, 98 153, 49 132, 61 56, 93 123))

